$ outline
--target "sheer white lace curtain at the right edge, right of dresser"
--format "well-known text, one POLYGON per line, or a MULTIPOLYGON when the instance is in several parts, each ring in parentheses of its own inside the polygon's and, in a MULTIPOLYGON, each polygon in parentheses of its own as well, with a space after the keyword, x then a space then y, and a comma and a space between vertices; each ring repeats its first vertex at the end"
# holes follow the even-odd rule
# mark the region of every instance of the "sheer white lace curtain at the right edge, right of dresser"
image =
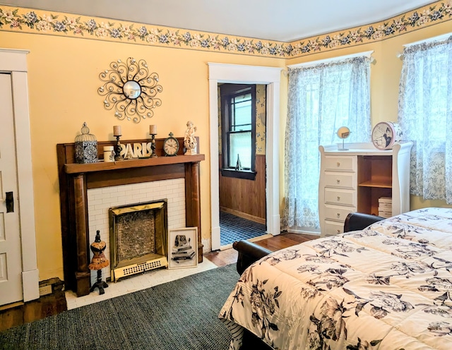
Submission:
POLYGON ((398 121, 413 141, 410 193, 452 204, 452 36, 403 50, 398 121))

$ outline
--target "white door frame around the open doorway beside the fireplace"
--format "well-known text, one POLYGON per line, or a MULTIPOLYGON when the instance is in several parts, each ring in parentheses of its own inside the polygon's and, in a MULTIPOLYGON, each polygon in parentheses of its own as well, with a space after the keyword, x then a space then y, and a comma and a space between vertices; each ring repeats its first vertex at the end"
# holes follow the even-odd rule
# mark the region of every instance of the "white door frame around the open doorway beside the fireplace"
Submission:
POLYGON ((279 144, 280 79, 283 68, 208 62, 210 114, 210 227, 212 251, 220 249, 218 164, 218 83, 264 84, 266 97, 266 222, 267 233, 280 234, 279 144), (276 146, 276 147, 275 147, 276 146))

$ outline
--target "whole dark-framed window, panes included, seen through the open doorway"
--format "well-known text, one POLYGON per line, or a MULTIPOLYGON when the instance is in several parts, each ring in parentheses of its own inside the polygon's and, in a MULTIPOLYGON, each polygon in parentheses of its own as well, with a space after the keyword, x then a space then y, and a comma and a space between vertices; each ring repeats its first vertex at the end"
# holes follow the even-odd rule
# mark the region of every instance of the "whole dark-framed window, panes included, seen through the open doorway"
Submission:
POLYGON ((254 179, 256 85, 220 85, 222 176, 254 179))

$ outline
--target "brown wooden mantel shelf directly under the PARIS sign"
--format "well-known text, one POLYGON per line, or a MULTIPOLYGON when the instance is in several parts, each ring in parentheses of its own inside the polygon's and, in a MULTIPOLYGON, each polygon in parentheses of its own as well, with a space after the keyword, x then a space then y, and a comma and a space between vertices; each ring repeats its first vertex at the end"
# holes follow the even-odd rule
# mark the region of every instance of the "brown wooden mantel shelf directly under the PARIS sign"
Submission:
POLYGON ((127 159, 119 162, 97 162, 87 164, 70 163, 64 164, 66 174, 80 174, 93 171, 108 171, 118 169, 130 169, 140 167, 153 167, 155 165, 183 164, 201 162, 204 155, 177 155, 174 157, 155 157, 146 159, 127 159))

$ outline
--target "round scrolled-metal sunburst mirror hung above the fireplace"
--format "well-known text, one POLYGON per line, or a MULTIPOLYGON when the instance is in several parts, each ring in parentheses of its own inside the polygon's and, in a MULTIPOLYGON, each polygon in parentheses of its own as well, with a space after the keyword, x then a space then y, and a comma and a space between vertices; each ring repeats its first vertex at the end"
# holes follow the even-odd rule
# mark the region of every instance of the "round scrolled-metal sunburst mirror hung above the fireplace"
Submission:
POLYGON ((97 89, 105 97, 105 109, 114 109, 119 120, 127 119, 139 123, 141 119, 151 118, 153 109, 162 104, 157 94, 162 92, 157 73, 149 73, 144 59, 136 61, 129 57, 126 62, 120 59, 110 64, 110 68, 99 74, 104 84, 97 89))

